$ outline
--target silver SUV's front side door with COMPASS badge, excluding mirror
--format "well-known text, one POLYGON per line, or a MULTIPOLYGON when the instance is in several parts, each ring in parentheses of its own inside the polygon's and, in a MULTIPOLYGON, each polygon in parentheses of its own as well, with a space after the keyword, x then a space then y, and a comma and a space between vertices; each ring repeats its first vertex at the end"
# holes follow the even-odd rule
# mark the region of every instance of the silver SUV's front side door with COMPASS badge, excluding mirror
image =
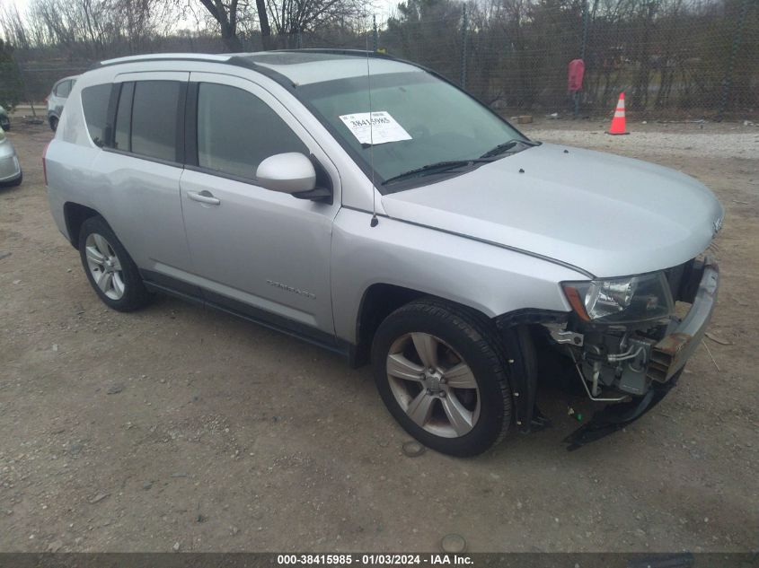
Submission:
POLYGON ((208 301, 332 340, 331 229, 340 207, 334 165, 289 111, 255 83, 192 73, 188 101, 182 208, 194 271, 208 301), (324 183, 333 188, 333 204, 257 184, 258 164, 287 152, 313 155, 324 183))

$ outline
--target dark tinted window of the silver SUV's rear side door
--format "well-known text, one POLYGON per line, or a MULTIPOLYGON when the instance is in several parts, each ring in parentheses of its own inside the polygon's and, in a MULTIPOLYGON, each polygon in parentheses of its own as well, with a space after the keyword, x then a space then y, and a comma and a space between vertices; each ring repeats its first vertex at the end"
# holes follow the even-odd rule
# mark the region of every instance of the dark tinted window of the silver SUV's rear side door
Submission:
POLYGON ((178 162, 177 114, 183 83, 124 83, 116 113, 115 144, 119 150, 165 162, 178 162))

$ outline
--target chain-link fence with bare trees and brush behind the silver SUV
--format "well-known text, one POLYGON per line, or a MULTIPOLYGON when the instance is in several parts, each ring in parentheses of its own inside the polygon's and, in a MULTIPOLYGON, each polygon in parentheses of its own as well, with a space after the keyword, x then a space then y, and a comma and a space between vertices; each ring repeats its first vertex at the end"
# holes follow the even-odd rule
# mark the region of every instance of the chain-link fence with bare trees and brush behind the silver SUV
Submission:
MULTIPOLYGON (((503 0, 488 7, 411 0, 366 28, 297 33, 276 45, 384 51, 428 66, 505 115, 605 116, 625 92, 627 109, 641 117, 759 116, 757 0, 503 0), (585 62, 577 100, 567 77, 576 58, 585 62)), ((260 50, 260 35, 243 38, 243 45, 260 50)), ((173 37, 146 50, 214 53, 223 44, 173 37)), ((116 55, 126 54, 109 57, 116 55)), ((57 79, 94 63, 16 59, 23 98, 36 101, 57 79)))

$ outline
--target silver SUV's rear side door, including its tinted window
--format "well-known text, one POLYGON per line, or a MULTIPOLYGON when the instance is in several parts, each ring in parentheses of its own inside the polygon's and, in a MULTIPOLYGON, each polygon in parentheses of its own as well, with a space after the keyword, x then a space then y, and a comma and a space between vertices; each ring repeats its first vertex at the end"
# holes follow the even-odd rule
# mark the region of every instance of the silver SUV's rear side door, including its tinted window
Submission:
POLYGON ((158 284, 164 276, 174 284, 190 270, 180 199, 189 76, 120 74, 110 103, 112 147, 99 159, 110 186, 107 221, 146 278, 158 284))

